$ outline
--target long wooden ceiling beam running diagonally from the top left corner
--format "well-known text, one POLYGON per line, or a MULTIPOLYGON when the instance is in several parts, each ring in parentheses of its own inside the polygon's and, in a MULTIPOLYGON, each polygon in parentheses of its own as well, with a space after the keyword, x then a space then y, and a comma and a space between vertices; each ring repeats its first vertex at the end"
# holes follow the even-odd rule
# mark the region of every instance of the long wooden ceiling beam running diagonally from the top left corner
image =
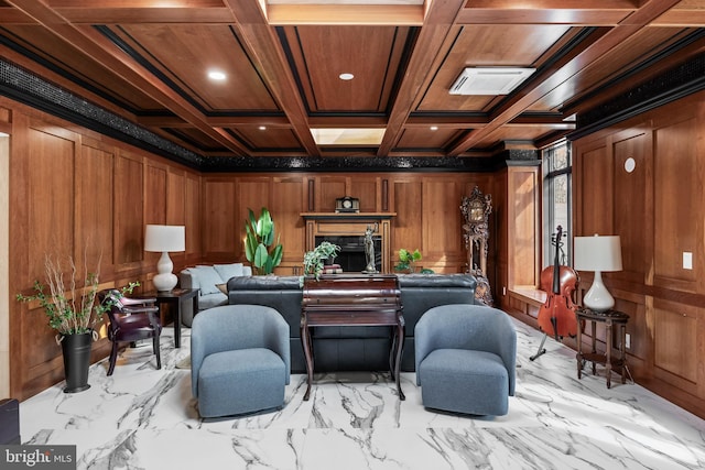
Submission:
POLYGON ((25 14, 32 17, 54 35, 82 51, 108 70, 119 74, 139 87, 165 108, 191 122, 206 135, 210 136, 228 150, 237 154, 249 155, 247 147, 228 134, 224 129, 214 129, 205 120, 205 116, 178 96, 149 72, 135 64, 129 56, 115 46, 105 36, 93 29, 77 28, 51 9, 41 0, 8 0, 25 14))

